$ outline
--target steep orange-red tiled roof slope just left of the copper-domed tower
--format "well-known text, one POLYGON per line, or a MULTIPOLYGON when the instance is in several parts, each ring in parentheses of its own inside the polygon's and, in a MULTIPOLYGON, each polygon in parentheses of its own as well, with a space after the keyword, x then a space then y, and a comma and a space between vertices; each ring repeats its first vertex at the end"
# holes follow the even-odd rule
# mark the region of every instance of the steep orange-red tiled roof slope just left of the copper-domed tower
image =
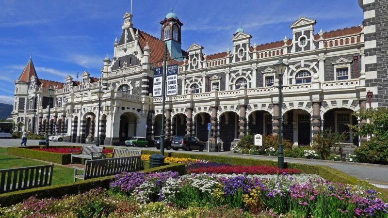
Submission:
MULTIPOLYGON (((134 32, 137 31, 136 28, 132 28, 134 32)), ((152 36, 144 31, 139 30, 139 44, 142 50, 144 47, 146 47, 148 43, 148 46, 151 48, 150 53, 150 62, 156 63, 155 65, 162 66, 163 58, 164 58, 164 42, 155 36, 152 36)), ((170 59, 170 53, 167 49, 167 59, 170 59)), ((174 64, 178 63, 176 60, 170 60, 168 61, 168 64, 174 64)))

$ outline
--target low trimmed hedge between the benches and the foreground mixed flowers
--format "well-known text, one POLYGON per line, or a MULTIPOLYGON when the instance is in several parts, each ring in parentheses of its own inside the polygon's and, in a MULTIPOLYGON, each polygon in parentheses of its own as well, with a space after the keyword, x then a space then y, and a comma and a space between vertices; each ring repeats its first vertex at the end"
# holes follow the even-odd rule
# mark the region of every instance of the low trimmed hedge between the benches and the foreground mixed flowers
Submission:
MULTIPOLYGON (((178 171, 180 174, 184 174, 185 165, 180 163, 171 163, 165 166, 156 167, 144 172, 159 172, 159 171, 178 171)), ((54 175, 55 176, 55 175, 54 175)), ((71 184, 37 187, 27 190, 20 190, 0 194, 0 206, 11 206, 13 204, 22 202, 23 200, 35 196, 36 198, 60 198, 65 195, 79 194, 86 192, 92 188, 103 187, 108 188, 112 182, 114 176, 106 176, 94 179, 88 179, 78 181, 71 184)))

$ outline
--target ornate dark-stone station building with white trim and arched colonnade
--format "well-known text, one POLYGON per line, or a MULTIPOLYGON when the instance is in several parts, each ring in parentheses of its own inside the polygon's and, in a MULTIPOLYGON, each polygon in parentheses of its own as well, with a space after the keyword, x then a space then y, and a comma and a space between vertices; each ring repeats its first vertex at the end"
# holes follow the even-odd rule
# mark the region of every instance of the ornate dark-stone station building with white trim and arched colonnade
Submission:
POLYGON ((92 142, 98 122, 95 92, 101 88, 101 144, 132 136, 152 139, 161 134, 164 113, 166 135, 220 142, 226 151, 247 131, 278 134, 279 116, 284 137, 295 146, 308 145, 325 128, 346 132, 344 143, 358 145, 365 139, 355 137, 348 124, 366 121, 352 112, 368 102, 388 106, 388 7, 382 7, 387 0, 360 0, 359 5, 364 22, 357 27, 315 31, 314 19, 300 17, 290 26, 291 39, 263 45, 252 45, 252 36, 238 28, 231 34, 232 48, 211 55, 195 43, 181 48, 183 23, 172 11, 160 22, 160 38, 133 27, 132 15, 125 13, 121 37, 114 41, 112 60, 108 55, 103 60, 100 78, 83 72, 80 82, 70 76, 63 82, 45 80, 30 58, 15 82, 13 119, 29 131, 92 142), (165 44, 168 64, 178 64, 178 94, 166 96, 162 111, 162 97, 153 97, 152 90, 153 69, 162 65, 165 44), (282 105, 273 67, 279 57, 288 63, 282 105), (56 92, 48 117, 50 86, 56 92))

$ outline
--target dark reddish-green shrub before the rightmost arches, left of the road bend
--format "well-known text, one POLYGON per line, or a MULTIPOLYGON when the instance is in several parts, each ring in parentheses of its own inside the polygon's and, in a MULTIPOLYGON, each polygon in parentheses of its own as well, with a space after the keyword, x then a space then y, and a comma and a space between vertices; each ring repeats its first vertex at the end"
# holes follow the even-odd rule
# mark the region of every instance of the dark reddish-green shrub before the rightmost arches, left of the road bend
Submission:
POLYGON ((339 143, 344 140, 344 134, 332 132, 331 129, 325 129, 322 132, 315 134, 313 148, 324 160, 326 160, 333 149, 336 151, 338 148, 338 153, 342 153, 339 143))

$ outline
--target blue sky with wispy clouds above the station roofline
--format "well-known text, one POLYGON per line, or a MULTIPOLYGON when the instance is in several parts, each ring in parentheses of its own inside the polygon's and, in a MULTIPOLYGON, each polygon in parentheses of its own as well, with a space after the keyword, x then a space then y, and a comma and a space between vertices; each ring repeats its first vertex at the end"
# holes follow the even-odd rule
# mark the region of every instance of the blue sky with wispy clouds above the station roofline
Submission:
MULTIPOLYGON (((160 37, 171 5, 184 23, 182 48, 195 42, 207 54, 231 48, 240 22, 252 44, 291 38, 300 16, 317 20, 315 33, 362 23, 356 0, 133 0, 134 27, 160 37)), ((84 70, 99 77, 129 10, 130 0, 0 0, 0 102, 12 104, 30 50, 39 78, 64 81, 84 70)))

